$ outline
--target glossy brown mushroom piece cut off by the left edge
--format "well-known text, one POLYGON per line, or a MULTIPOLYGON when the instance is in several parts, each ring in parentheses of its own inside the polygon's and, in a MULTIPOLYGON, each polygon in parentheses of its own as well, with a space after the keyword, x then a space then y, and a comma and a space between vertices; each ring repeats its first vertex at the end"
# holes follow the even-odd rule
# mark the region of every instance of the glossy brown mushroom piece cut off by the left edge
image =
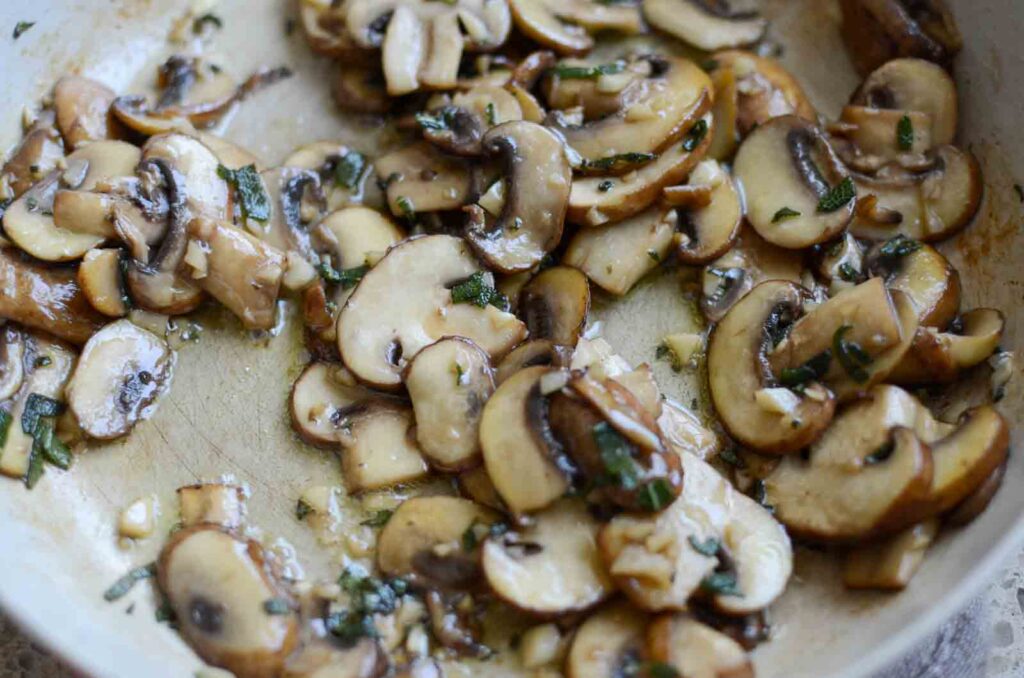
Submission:
POLYGON ((0 247, 0 317, 81 345, 106 319, 89 304, 74 269, 43 266, 0 247))

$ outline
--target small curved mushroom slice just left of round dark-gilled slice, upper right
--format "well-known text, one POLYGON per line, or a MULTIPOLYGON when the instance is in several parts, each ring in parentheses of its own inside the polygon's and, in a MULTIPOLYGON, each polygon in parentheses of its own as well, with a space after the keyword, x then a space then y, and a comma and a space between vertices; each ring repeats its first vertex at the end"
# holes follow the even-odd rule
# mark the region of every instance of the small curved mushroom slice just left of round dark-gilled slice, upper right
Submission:
POLYGON ((677 210, 680 232, 673 238, 676 256, 686 264, 701 264, 725 254, 739 236, 743 211, 732 177, 714 160, 698 164, 685 186, 668 187, 665 198, 677 210), (681 190, 687 188, 690 190, 681 190), (707 188, 708 202, 694 201, 707 188))

